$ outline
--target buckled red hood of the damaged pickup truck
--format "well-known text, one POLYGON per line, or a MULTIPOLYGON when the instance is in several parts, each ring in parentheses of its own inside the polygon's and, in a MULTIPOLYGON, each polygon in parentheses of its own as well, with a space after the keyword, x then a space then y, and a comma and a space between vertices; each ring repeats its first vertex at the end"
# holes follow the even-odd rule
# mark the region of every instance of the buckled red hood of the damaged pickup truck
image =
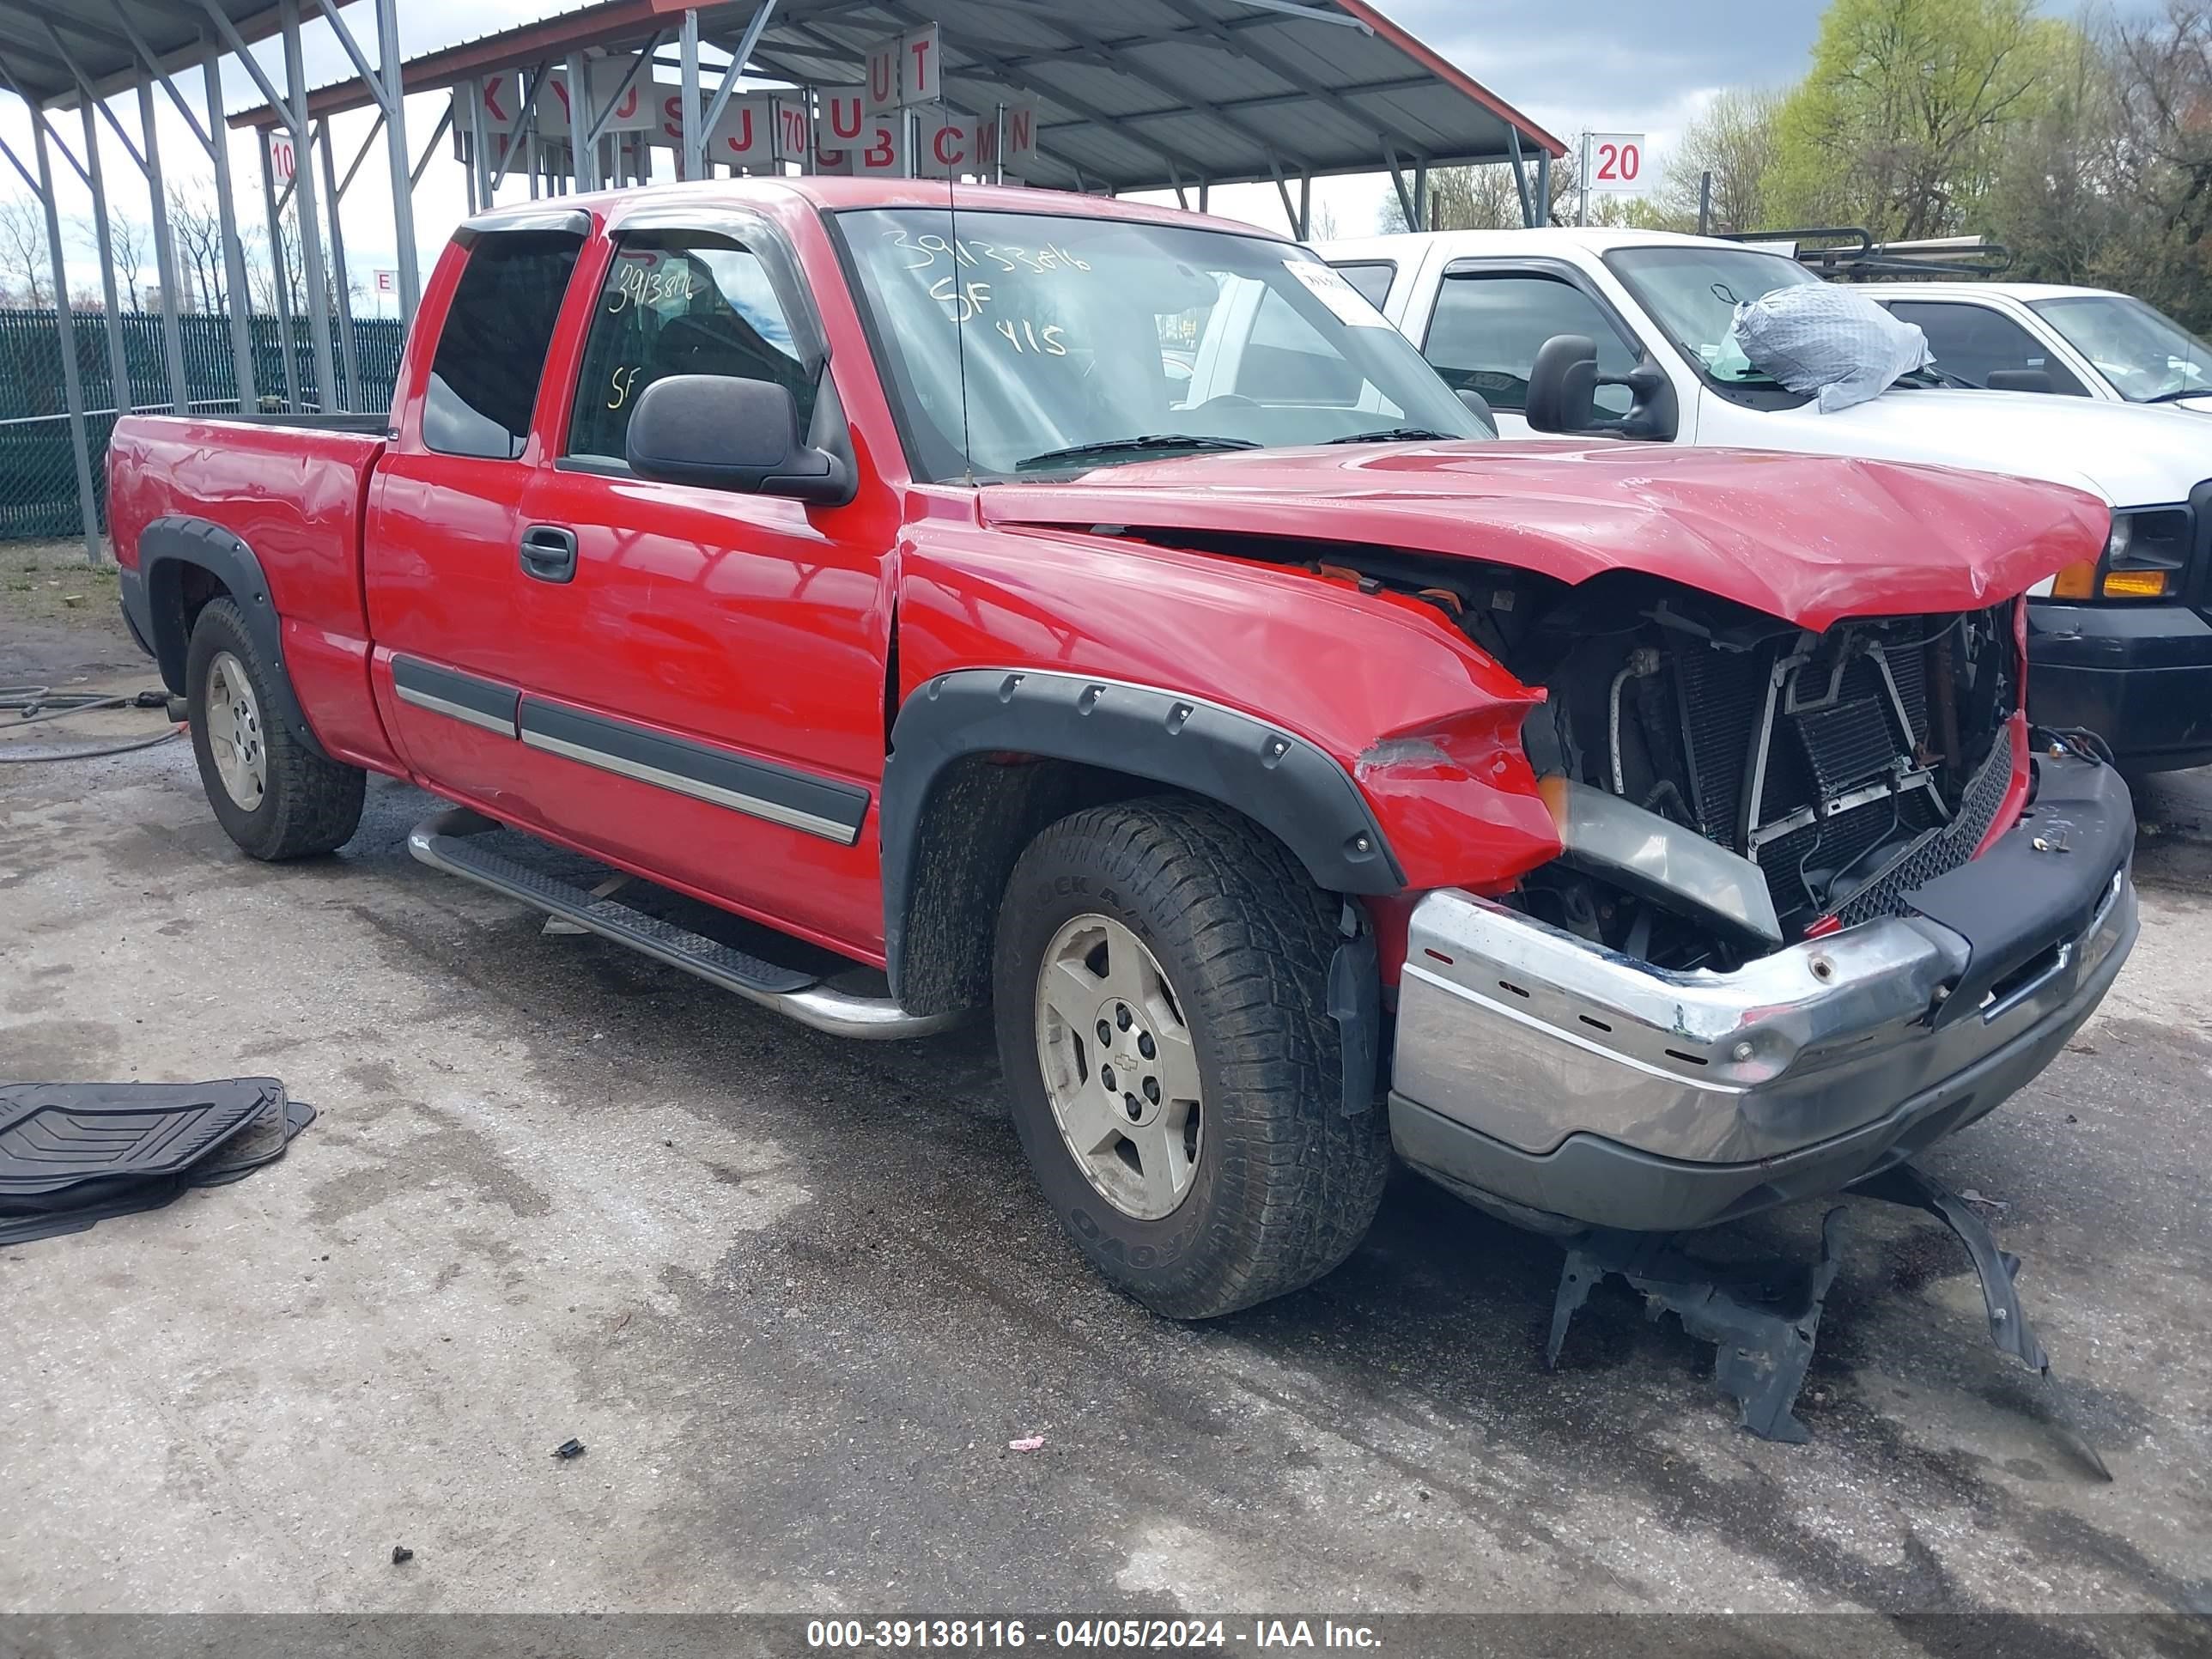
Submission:
POLYGON ((1380 542, 1564 582, 1644 571, 1814 630, 1995 604, 2097 557, 2110 529, 2059 484, 1635 442, 1188 456, 993 484, 982 518, 1380 542))

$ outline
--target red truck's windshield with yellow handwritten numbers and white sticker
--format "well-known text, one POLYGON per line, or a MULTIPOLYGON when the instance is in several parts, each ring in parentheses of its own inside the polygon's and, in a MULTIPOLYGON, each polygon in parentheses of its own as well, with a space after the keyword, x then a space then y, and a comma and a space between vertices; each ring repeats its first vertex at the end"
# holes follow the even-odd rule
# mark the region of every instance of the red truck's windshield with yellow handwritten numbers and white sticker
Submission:
POLYGON ((1221 230, 838 215, 922 478, 1015 478, 1365 434, 1486 438, 1340 274, 1221 230))

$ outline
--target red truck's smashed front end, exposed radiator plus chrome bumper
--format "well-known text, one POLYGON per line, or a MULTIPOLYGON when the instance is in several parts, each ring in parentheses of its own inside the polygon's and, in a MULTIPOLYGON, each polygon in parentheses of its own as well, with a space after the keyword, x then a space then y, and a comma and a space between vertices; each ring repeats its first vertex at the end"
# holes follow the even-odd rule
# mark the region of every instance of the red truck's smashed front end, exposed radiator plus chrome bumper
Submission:
POLYGON ((2077 741, 2031 743, 2017 613, 1812 630, 1630 580, 1500 628, 1562 854, 1413 907, 1407 1161, 1524 1225, 1677 1232, 2039 1073, 2135 940, 2135 818, 2077 741))

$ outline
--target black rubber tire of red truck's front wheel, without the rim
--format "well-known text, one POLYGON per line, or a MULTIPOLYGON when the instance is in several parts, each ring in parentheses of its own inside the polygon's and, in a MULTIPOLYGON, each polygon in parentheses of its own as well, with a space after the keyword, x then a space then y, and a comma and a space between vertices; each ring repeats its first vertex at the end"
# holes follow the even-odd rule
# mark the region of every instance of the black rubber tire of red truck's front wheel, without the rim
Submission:
POLYGON ((1391 1150, 1378 1108, 1343 1108, 1327 1015, 1340 916, 1283 843, 1181 796, 1077 812, 1015 863, 993 964, 1015 1130, 1075 1245, 1157 1314, 1214 1318, 1283 1296, 1367 1237, 1391 1150), (1086 914, 1121 922, 1155 956, 1197 1048, 1201 1152, 1159 1221, 1099 1194, 1044 1082, 1037 975, 1055 933, 1086 914))

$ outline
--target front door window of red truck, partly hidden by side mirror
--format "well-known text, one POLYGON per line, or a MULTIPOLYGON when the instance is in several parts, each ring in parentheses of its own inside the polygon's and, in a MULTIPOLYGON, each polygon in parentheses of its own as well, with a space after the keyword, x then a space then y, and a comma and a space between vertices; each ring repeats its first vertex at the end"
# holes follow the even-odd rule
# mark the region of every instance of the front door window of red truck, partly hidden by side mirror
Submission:
POLYGON ((814 418, 814 376, 761 257, 710 230, 624 237, 599 285, 577 372, 568 453, 619 462, 639 394, 666 374, 774 380, 814 418))

